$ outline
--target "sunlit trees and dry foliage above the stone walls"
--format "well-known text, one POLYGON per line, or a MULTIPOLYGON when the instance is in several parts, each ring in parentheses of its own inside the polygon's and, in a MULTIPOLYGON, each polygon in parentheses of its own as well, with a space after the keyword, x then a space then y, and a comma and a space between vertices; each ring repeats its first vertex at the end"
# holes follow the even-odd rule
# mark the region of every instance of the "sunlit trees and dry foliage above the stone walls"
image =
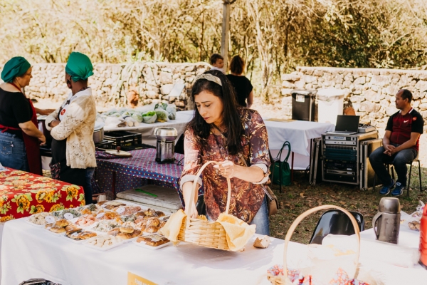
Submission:
MULTIPOLYGON (((0 62, 208 61, 221 48, 222 0, 3 0, 0 62)), ((266 93, 296 66, 426 66, 424 0, 237 0, 230 53, 266 93)))

